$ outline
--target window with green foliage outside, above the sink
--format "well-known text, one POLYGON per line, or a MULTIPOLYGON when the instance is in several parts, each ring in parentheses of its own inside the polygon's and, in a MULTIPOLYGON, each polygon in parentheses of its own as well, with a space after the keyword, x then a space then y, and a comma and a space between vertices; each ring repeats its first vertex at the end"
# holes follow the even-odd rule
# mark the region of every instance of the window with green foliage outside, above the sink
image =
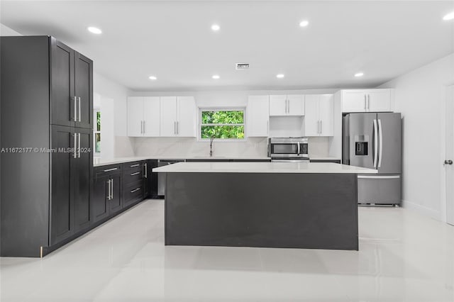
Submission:
POLYGON ((200 138, 221 140, 244 139, 244 109, 200 110, 200 138))

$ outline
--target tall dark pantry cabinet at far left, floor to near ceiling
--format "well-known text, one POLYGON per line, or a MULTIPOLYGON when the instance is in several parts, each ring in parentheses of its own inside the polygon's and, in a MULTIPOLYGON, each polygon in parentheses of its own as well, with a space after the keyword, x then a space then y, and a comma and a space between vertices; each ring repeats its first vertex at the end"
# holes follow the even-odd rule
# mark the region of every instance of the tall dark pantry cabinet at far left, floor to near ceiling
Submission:
POLYGON ((93 62, 49 36, 0 38, 1 256, 89 229, 93 62))

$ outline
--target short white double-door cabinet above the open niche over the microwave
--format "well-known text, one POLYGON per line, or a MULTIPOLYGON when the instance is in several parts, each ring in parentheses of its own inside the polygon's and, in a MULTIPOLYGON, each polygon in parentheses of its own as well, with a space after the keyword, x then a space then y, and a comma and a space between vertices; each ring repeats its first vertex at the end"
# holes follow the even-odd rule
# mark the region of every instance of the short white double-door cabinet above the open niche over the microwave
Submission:
POLYGON ((304 95, 271 95, 270 116, 304 116, 304 95))

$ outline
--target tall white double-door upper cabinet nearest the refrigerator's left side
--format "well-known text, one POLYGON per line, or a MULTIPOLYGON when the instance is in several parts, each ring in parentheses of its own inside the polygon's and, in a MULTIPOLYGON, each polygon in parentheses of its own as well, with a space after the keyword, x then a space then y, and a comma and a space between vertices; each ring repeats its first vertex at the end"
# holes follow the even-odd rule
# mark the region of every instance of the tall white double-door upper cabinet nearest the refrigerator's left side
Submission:
POLYGON ((304 135, 333 136, 333 94, 308 94, 305 99, 304 135))

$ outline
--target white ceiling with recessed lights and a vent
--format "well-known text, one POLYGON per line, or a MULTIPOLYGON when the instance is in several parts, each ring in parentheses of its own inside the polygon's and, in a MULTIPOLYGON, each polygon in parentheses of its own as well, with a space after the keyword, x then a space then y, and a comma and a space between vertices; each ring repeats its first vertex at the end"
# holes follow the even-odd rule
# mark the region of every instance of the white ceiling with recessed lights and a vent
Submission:
POLYGON ((372 87, 454 52, 454 21, 442 20, 454 1, 2 0, 0 9, 4 25, 53 35, 137 91, 372 87))

